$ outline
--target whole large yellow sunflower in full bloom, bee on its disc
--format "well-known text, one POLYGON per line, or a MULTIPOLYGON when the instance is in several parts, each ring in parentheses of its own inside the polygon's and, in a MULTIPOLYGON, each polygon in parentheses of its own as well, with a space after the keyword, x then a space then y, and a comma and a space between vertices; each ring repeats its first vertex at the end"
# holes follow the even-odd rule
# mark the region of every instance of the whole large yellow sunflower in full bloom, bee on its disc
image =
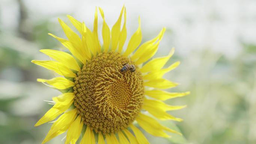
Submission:
POLYGON ((142 34, 138 18, 138 29, 123 51, 127 38, 125 7, 111 31, 103 10, 99 10, 103 18, 103 45, 98 39, 96 7, 92 31, 84 22, 68 15, 80 36, 60 19, 60 25, 68 39, 49 34, 70 52, 42 49, 40 52, 55 61, 32 61, 64 76, 49 80, 37 79, 38 82, 63 92, 52 98, 54 106, 35 124, 39 126, 59 116, 52 122, 42 144, 66 131, 65 144, 75 144, 80 134, 80 144, 104 144, 105 140, 107 144, 149 144, 136 127, 137 124, 134 124, 135 121, 156 137, 170 137, 165 131, 180 134, 152 118, 154 116, 160 120, 181 121, 182 119, 171 116, 167 111, 185 106, 171 106, 162 101, 189 94, 161 90, 177 86, 177 83, 162 78, 179 65, 179 62, 175 62, 168 68, 163 68, 174 49, 167 56, 150 60, 158 49, 165 28, 154 39, 140 45, 142 34), (121 29, 123 15, 124 24, 121 29), (146 61, 148 62, 143 64, 146 61))

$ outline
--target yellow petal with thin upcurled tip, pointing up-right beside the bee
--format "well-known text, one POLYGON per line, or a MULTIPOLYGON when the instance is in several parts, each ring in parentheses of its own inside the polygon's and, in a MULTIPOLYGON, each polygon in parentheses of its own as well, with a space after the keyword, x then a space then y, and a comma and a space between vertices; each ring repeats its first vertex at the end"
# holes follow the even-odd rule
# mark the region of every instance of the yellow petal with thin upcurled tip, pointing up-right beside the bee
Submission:
POLYGON ((170 59, 170 57, 174 53, 174 48, 171 50, 168 56, 161 57, 161 58, 154 58, 151 61, 147 62, 143 67, 140 69, 141 73, 146 73, 153 70, 160 70, 166 62, 170 59))

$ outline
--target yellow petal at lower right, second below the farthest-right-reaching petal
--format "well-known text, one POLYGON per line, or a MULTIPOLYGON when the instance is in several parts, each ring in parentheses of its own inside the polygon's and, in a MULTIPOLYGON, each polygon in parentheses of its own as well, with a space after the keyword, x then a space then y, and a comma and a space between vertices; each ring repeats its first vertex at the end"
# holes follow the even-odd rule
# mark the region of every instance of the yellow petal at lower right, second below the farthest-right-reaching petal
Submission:
POLYGON ((150 114, 152 114, 153 116, 155 116, 156 118, 160 119, 160 120, 176 120, 178 122, 182 121, 182 119, 174 117, 170 114, 168 114, 166 111, 164 110, 159 110, 159 108, 154 107, 154 105, 142 105, 142 108, 144 110, 147 110, 150 114))

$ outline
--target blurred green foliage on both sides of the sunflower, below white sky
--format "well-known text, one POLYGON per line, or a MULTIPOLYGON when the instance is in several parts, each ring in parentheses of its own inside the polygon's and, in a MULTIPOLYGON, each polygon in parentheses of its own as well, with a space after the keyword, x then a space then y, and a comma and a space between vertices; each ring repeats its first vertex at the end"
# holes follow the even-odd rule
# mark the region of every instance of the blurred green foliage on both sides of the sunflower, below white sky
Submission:
MULTIPOLYGON (((36 78, 51 78, 52 73, 30 61, 42 57, 39 49, 61 47, 47 34, 60 33, 56 25, 43 18, 28 21, 24 15, 17 29, 0 28, 0 144, 41 143, 51 126, 34 128, 33 125, 50 107, 46 102, 37 103, 57 94, 37 84, 36 78), (44 93, 40 94, 41 91, 44 93)), ((147 34, 145 36, 143 40, 148 39, 147 34)), ((183 136, 171 134, 172 137, 165 140, 146 134, 152 144, 256 143, 256 45, 241 42, 241 46, 241 52, 234 58, 204 48, 192 50, 188 55, 175 54, 170 59, 168 65, 182 62, 177 70, 165 76, 182 83, 170 91, 191 91, 191 95, 166 101, 188 107, 170 112, 183 118, 183 122, 162 124, 181 131, 183 136)), ((54 138, 49 144, 61 143, 63 137, 54 138)))

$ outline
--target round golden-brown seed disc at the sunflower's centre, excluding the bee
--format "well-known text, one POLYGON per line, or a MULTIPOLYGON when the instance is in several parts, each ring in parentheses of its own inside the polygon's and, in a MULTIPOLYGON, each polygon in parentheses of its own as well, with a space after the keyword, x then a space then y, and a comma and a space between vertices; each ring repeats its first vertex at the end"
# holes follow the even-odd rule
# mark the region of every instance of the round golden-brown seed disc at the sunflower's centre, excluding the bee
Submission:
POLYGON ((83 122, 95 132, 118 132, 132 123, 141 109, 141 73, 121 73, 125 63, 131 64, 119 53, 100 53, 83 65, 74 78, 74 105, 83 122))

